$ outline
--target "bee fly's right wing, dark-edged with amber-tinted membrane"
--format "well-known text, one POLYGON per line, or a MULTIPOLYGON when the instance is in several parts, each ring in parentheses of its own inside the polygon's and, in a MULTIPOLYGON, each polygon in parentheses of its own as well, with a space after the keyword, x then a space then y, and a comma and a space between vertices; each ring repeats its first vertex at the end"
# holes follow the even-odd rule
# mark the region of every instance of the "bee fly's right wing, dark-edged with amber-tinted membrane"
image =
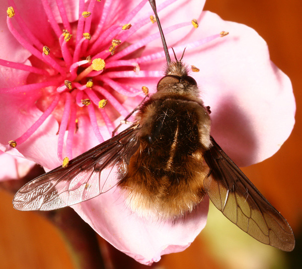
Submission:
POLYGON ((212 203, 225 217, 255 239, 291 251, 294 236, 287 221, 212 137, 211 141, 213 146, 204 154, 210 168, 204 188, 212 203))

